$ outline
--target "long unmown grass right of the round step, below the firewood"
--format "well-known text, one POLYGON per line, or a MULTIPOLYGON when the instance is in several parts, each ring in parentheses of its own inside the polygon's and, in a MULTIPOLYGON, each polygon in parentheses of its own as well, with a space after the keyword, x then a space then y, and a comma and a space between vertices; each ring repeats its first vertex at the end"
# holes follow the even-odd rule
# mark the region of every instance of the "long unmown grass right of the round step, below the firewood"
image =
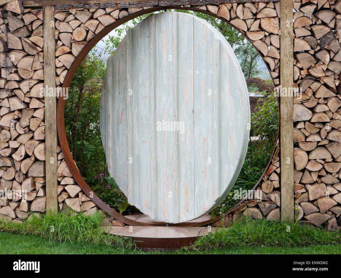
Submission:
POLYGON ((215 233, 199 237, 190 247, 206 251, 211 248, 302 247, 311 244, 340 244, 341 233, 326 232, 322 227, 312 228, 299 222, 280 223, 276 221, 242 219, 231 227, 221 228, 215 233))

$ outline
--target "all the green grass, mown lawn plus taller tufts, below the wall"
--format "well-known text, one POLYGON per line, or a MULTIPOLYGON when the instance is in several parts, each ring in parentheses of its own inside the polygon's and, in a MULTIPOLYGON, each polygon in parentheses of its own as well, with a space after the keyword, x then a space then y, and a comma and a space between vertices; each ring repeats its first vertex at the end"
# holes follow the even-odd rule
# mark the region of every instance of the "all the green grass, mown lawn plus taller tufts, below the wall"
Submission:
MULTIPOLYGON (((0 221, 2 254, 137 254, 131 239, 104 233, 103 216, 31 215, 22 224, 0 221)), ((169 253, 150 251, 146 253, 169 253)), ((341 254, 340 231, 326 232, 299 222, 242 219, 199 237, 184 254, 341 254)))

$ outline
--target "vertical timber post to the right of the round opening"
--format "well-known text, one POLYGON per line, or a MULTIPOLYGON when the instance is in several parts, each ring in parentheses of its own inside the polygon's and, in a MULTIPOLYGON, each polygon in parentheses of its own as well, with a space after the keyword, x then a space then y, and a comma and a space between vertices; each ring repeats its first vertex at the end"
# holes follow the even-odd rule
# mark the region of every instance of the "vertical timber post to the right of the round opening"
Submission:
POLYGON ((294 219, 294 140, 293 100, 293 0, 280 1, 280 157, 281 157, 281 221, 294 219))

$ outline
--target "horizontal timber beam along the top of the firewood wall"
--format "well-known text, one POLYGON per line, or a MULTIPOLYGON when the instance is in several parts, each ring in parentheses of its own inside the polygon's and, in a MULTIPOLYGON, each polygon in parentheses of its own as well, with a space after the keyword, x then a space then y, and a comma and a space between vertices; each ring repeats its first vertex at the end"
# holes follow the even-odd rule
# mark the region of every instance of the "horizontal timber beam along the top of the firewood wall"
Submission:
MULTIPOLYGON (((45 5, 77 5, 77 4, 101 4, 101 3, 136 3, 136 2, 151 2, 152 0, 23 0, 23 6, 24 7, 42 7, 45 5)), ((198 5, 205 5, 205 4, 222 4, 222 3, 247 3, 247 2, 279 2, 280 0, 206 0, 206 1, 200 1, 200 0, 174 0, 174 4, 179 2, 179 5, 184 5, 183 2, 188 2, 188 4, 198 4, 198 5)), ((11 2, 9 0, 0 0, 0 6, 7 4, 8 2, 11 2)), ((154 2, 154 1, 153 1, 154 2)), ((159 2, 159 1, 155 1, 159 2)), ((171 1, 160 1, 160 2, 168 2, 171 1)), ((186 4, 185 4, 186 5, 186 4)))

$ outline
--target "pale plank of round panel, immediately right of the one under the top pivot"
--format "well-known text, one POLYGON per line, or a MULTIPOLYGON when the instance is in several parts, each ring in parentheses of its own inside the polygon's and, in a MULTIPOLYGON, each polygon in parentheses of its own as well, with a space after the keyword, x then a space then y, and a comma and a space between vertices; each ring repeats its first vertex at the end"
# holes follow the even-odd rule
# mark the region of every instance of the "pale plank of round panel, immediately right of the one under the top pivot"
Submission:
POLYGON ((178 20, 178 33, 177 40, 181 40, 184 45, 188 47, 177 48, 178 55, 178 69, 183 74, 178 75, 178 121, 185 122, 185 128, 183 134, 179 134, 178 146, 179 146, 179 192, 183 197, 179 198, 179 211, 180 222, 183 221, 183 217, 190 216, 195 218, 194 214, 194 115, 193 115, 193 47, 194 47, 194 34, 193 34, 193 17, 180 18, 178 20), (186 70, 184 70, 186 69, 186 70), (183 167, 182 165, 186 165, 183 167), (183 210, 186 213, 183 213, 183 210))

